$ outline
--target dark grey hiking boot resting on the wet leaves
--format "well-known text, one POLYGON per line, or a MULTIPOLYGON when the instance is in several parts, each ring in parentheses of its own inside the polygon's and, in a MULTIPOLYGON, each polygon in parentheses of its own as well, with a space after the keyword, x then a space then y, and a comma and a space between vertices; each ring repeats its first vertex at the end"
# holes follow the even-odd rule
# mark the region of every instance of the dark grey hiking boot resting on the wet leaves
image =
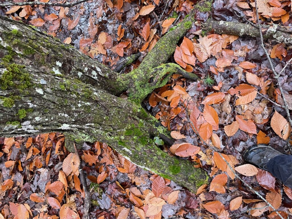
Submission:
POLYGON ((258 168, 267 170, 267 163, 276 156, 282 155, 281 152, 275 150, 269 145, 253 145, 246 152, 244 152, 243 158, 258 168))

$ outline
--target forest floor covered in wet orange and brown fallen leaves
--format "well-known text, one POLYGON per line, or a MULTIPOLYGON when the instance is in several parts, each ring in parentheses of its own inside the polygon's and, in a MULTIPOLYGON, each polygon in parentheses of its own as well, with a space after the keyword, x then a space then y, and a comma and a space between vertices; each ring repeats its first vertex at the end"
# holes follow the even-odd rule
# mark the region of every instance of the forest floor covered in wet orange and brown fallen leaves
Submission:
MULTIPOLYGON (((190 0, 113 2, 88 1, 70 8, 9 6, 0 13, 34 25, 112 69, 140 51, 138 60, 122 70, 126 74, 196 5, 190 0)), ((291 1, 257 2, 265 24, 289 30, 291 1)), ((215 0, 211 11, 210 5, 197 13, 169 62, 199 79, 188 81, 174 74, 143 102, 175 139, 172 146, 160 139, 156 143, 169 156, 203 168, 210 183, 192 193, 135 166, 105 143, 84 142, 79 156, 92 193, 90 218, 279 218, 258 194, 283 218, 292 218, 292 190, 242 158, 244 150, 260 143, 291 154, 291 127, 260 39, 201 30, 210 14, 216 20, 256 23, 254 6, 253 0, 215 0), (225 154, 258 194, 214 150, 225 154)), ((281 71, 292 49, 273 40, 265 40, 265 46, 276 72, 281 72, 279 81, 292 109, 292 65, 281 71)), ((0 219, 82 218, 78 156, 66 150, 62 133, 3 137, 0 147, 0 219)))

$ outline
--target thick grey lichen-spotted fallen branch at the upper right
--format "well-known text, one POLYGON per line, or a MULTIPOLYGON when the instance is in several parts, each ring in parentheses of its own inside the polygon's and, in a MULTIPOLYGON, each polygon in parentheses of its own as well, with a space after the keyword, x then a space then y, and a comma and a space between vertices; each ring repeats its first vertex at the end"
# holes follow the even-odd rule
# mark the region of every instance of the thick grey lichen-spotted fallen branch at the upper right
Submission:
MULTIPOLYGON (((284 32, 283 27, 278 25, 264 25, 262 29, 263 37, 266 39, 274 39, 279 43, 285 43, 287 46, 292 45, 292 34, 284 32)), ((239 22, 227 22, 209 19, 203 24, 204 30, 214 30, 216 34, 233 34, 238 36, 260 37, 257 27, 251 24, 243 24, 239 22)))

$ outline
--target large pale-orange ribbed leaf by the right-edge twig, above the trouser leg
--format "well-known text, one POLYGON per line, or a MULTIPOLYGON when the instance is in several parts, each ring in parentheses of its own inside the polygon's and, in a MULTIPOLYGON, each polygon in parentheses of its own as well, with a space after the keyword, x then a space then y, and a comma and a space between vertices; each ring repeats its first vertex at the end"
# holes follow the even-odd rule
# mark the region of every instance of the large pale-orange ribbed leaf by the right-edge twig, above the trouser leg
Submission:
POLYGON ((288 139, 291 127, 288 121, 277 111, 275 111, 271 119, 271 127, 280 138, 283 138, 284 140, 288 139))

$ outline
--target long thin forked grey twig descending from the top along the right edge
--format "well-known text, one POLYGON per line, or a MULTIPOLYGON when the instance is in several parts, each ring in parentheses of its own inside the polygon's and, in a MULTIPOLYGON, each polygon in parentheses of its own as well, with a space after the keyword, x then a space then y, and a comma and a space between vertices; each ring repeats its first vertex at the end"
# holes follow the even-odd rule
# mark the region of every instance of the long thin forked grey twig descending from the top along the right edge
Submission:
MULTIPOLYGON (((265 45, 264 45, 264 39, 263 39, 263 33, 262 33, 262 26, 260 24, 260 18, 259 18, 259 15, 258 15, 258 6, 257 6, 257 2, 255 0, 255 6, 256 6, 256 16, 257 16, 257 21, 258 21, 258 30, 259 30, 259 33, 260 33, 260 41, 261 41, 261 45, 262 45, 262 48, 267 56, 267 59, 270 63, 270 66, 271 66, 271 69, 272 69, 272 72, 274 73, 274 78, 277 80, 277 83, 278 83, 278 86, 279 86, 279 89, 280 89, 280 92, 281 92, 281 96, 283 98, 283 103, 284 103, 284 109, 286 110, 286 113, 287 113, 287 117, 288 117, 288 121, 289 121, 289 124, 290 124, 290 127, 292 127, 292 120, 291 120, 291 117, 290 117, 290 112, 289 112, 289 108, 288 108, 288 103, 286 101, 286 98, 285 98, 285 93, 283 91, 283 88, 281 86, 281 81, 280 81, 280 74, 284 71, 284 69, 287 67, 288 63, 292 60, 292 58, 289 60, 288 63, 286 63, 285 67, 281 70, 280 74, 278 74, 276 71, 275 71, 275 68, 273 66, 273 63, 272 63, 272 60, 270 58, 270 55, 267 51, 267 49, 265 48, 265 45)), ((291 151, 291 149, 290 149, 291 151)))

